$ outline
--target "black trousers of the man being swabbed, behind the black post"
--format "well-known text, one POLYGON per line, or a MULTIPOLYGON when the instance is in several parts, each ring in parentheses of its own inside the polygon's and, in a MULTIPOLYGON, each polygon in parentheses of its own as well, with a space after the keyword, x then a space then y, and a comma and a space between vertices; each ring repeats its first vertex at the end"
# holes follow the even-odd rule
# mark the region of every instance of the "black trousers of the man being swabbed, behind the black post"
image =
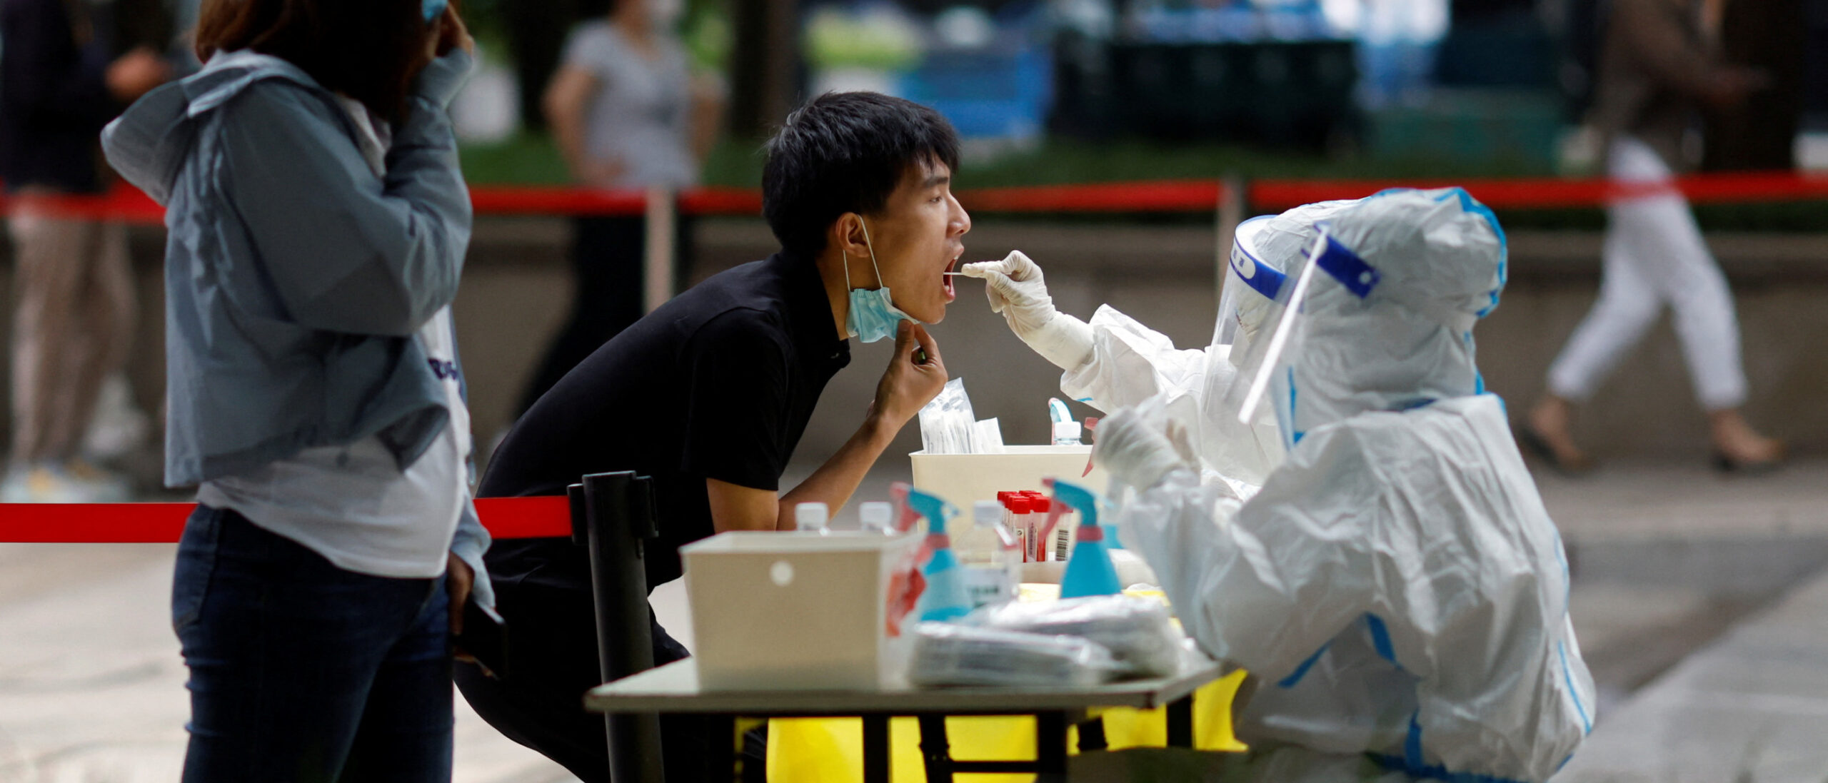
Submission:
MULTIPOLYGON (((457 690, 503 736, 558 761, 583 783, 609 783, 603 715, 585 712, 583 694, 603 683, 596 655, 596 613, 589 591, 495 582, 495 606, 508 624, 514 672, 490 679, 457 664, 457 690)), ((654 666, 687 657, 649 611, 654 666)), ((660 715, 662 763, 669 783, 728 781, 707 768, 709 726, 700 715, 660 715)), ((731 743, 733 737, 720 741, 731 743)), ((728 757, 728 752, 724 754, 728 757)))

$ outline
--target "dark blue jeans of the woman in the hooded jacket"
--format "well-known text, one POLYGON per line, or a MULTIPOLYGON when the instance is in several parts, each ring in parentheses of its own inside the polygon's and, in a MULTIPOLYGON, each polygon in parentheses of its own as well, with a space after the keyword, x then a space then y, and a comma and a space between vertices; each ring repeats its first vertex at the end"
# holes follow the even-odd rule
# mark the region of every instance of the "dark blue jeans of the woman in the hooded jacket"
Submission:
POLYGON ((442 579, 344 571, 197 506, 172 626, 190 666, 185 783, 448 783, 442 579))

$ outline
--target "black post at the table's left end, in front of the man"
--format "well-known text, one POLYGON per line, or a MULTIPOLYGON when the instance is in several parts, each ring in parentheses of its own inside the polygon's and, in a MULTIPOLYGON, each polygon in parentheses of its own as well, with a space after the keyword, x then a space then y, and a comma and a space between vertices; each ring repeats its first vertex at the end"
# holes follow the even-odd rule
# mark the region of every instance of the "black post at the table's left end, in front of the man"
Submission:
MULTIPOLYGON (((578 509, 578 489, 572 509, 578 509)), ((643 542, 654 538, 653 484, 632 471, 583 476, 585 540, 596 602, 596 650, 603 681, 654 668, 643 542)), ((576 524, 576 520, 574 520, 576 524)), ((579 694, 581 697, 581 694, 579 694)), ((603 715, 609 776, 616 783, 662 783, 660 715, 603 715)))

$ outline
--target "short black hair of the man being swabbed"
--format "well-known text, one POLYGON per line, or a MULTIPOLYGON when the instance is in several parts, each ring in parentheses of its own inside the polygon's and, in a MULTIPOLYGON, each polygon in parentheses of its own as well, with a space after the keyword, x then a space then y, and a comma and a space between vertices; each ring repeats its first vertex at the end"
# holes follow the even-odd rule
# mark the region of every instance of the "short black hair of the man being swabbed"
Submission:
POLYGON ((817 254, 846 212, 879 212, 910 166, 958 170, 958 131, 938 111, 881 93, 824 93, 768 141, 762 215, 781 246, 817 254))

